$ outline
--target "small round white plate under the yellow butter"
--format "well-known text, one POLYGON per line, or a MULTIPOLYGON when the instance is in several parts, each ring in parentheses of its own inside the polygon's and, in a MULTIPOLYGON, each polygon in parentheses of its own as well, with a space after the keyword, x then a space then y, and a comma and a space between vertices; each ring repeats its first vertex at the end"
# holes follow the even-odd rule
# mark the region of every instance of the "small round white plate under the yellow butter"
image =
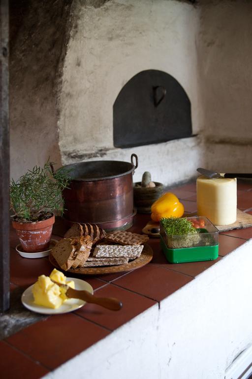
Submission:
MULTIPOLYGON (((66 280, 73 280, 76 290, 85 290, 90 292, 91 294, 94 293, 92 286, 84 280, 76 278, 66 278, 66 280)), ((33 312, 42 314, 68 313, 78 308, 81 308, 83 305, 86 304, 86 302, 80 299, 68 299, 57 309, 47 308, 42 305, 36 305, 33 303, 32 287, 33 284, 25 290, 25 292, 22 295, 21 301, 26 308, 32 310, 33 312)))

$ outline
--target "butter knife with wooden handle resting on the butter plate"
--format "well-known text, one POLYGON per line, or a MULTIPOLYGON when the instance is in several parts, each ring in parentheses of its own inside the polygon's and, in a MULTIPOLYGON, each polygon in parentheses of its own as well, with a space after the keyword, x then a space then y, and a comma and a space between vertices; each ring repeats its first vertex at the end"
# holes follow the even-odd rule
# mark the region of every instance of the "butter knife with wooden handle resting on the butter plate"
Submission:
POLYGON ((88 291, 75 290, 75 289, 69 287, 67 284, 62 284, 62 283, 56 282, 55 280, 52 280, 52 282, 58 284, 58 286, 60 286, 60 287, 63 287, 66 290, 65 295, 68 298, 81 299, 84 302, 98 304, 98 305, 103 306, 104 308, 107 308, 110 310, 120 310, 123 306, 123 303, 117 299, 114 299, 114 298, 98 298, 98 297, 92 295, 88 291))

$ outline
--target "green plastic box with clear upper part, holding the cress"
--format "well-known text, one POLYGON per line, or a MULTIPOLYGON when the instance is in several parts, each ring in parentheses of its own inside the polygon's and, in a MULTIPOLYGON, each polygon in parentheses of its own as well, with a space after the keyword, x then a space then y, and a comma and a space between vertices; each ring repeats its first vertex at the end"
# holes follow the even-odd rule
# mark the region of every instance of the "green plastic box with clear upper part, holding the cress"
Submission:
POLYGON ((170 263, 213 261, 219 255, 219 230, 206 217, 188 217, 188 220, 203 222, 199 233, 167 235, 160 226, 160 244, 170 263), (171 246, 181 246, 172 248, 171 246))

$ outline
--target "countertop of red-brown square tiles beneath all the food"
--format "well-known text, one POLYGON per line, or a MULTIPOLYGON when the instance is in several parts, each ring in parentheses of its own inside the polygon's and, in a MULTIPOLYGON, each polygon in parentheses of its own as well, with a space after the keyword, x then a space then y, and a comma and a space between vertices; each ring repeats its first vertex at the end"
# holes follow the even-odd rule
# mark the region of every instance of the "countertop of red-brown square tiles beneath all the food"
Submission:
MULTIPOLYGON (((186 212, 196 211, 195 183, 169 190, 181 199, 186 212)), ((252 214, 252 183, 238 182, 238 207, 252 214)), ((150 215, 136 215, 134 226, 129 230, 141 232, 148 221, 150 215)), ((56 223, 54 237, 60 238, 63 232, 62 223, 56 223)), ((218 260, 221 260, 252 238, 252 227, 221 232, 219 237, 218 260)), ((47 258, 29 260, 20 257, 15 250, 18 243, 15 231, 11 229, 11 290, 19 287, 25 290, 39 275, 48 275, 53 269, 47 258)), ((168 297, 217 262, 173 265, 165 260, 158 238, 150 239, 149 245, 154 251, 153 260, 149 265, 127 273, 96 277, 81 276, 93 286, 95 295, 116 297, 123 302, 123 308, 117 312, 116 317, 109 310, 87 304, 75 312, 49 316, 22 329, 0 341, 2 378, 41 378, 147 308, 168 297), (12 362, 15 362, 15 365, 12 362)), ((71 276, 80 277, 72 273, 71 276)))

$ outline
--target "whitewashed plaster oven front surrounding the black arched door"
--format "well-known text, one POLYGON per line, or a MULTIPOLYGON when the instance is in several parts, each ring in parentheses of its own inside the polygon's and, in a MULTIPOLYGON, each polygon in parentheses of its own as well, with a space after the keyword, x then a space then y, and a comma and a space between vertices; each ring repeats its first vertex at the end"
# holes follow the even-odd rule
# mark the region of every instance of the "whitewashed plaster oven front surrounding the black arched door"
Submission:
POLYGON ((173 147, 167 143, 114 149, 113 104, 132 76, 143 70, 161 70, 174 76, 186 90, 192 105, 193 132, 200 130, 195 45, 198 8, 173 0, 110 0, 98 8, 79 1, 74 5, 77 26, 68 44, 59 94, 63 163, 101 155, 101 159, 113 156, 129 160, 131 152, 136 152, 143 167, 136 181, 145 170, 165 184, 195 176, 200 161, 197 139, 175 142, 173 147), (183 162, 181 171, 178 161, 183 162), (165 166, 167 176, 161 166, 165 166))

